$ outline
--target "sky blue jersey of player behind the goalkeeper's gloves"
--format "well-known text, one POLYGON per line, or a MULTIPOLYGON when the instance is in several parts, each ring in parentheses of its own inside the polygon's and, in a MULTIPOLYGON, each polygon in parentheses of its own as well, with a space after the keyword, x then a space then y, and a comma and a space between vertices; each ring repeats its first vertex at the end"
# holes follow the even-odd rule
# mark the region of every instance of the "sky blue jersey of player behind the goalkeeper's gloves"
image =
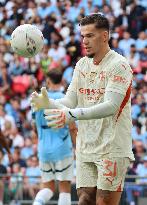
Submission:
MULTIPOLYGON (((52 99, 64 97, 61 91, 49 91, 52 99)), ((44 110, 34 113, 38 132, 38 157, 42 162, 56 162, 73 155, 72 141, 68 126, 60 129, 51 129, 44 118, 44 110)))

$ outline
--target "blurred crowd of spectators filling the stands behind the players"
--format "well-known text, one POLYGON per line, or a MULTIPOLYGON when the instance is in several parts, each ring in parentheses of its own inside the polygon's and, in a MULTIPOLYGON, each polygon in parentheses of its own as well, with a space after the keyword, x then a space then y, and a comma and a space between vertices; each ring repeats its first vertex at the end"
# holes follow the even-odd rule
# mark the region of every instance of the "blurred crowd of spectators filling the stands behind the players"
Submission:
MULTIPOLYGON (((25 176, 24 192, 34 197, 40 176, 37 133, 32 123, 30 94, 44 85, 50 69, 63 72, 63 90, 70 84, 76 62, 85 54, 79 21, 90 13, 103 13, 110 22, 110 46, 125 56, 134 71, 132 138, 136 161, 128 174, 147 175, 147 4, 146 0, 1 0, 0 1, 0 128, 11 147, 13 161, 1 149, 3 173, 25 176), (34 58, 13 53, 12 31, 21 24, 36 25, 45 38, 34 58), (28 189, 29 187, 29 189, 28 189)), ((10 178, 8 189, 18 189, 10 178)), ((17 181, 17 182, 18 182, 17 181)), ((147 183, 140 181, 140 183, 147 183)), ((21 189, 19 189, 21 190, 21 189)), ((19 195, 19 194, 18 194, 19 195)))

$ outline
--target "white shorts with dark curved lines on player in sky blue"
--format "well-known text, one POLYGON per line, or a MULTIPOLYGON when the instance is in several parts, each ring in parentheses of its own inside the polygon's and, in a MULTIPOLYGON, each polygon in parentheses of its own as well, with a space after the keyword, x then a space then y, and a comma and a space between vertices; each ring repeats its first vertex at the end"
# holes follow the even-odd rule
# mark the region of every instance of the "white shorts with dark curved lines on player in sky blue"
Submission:
POLYGON ((57 162, 39 162, 42 182, 52 180, 72 181, 73 157, 65 158, 57 162))

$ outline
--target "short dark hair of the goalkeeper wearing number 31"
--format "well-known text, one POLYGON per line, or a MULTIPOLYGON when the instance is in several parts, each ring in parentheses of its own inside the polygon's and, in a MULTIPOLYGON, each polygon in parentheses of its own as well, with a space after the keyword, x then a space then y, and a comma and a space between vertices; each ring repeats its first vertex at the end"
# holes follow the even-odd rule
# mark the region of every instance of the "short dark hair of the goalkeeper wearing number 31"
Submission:
POLYGON ((103 14, 90 14, 85 16, 80 21, 80 26, 95 24, 96 28, 106 29, 109 32, 110 26, 108 19, 103 14))

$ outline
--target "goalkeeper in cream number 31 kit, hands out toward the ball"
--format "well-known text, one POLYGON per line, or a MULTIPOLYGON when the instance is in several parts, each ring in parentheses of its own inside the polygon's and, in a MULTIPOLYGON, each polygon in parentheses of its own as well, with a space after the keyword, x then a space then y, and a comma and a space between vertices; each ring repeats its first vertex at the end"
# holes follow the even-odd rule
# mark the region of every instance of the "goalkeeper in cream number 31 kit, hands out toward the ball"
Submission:
POLYGON ((78 205, 118 205, 126 170, 134 160, 131 139, 132 70, 109 47, 109 22, 91 14, 80 22, 86 56, 81 58, 63 99, 32 94, 35 109, 46 108, 49 127, 78 120, 76 186, 78 205), (58 104, 65 107, 60 108, 58 104), (54 106, 54 108, 53 108, 54 106))

